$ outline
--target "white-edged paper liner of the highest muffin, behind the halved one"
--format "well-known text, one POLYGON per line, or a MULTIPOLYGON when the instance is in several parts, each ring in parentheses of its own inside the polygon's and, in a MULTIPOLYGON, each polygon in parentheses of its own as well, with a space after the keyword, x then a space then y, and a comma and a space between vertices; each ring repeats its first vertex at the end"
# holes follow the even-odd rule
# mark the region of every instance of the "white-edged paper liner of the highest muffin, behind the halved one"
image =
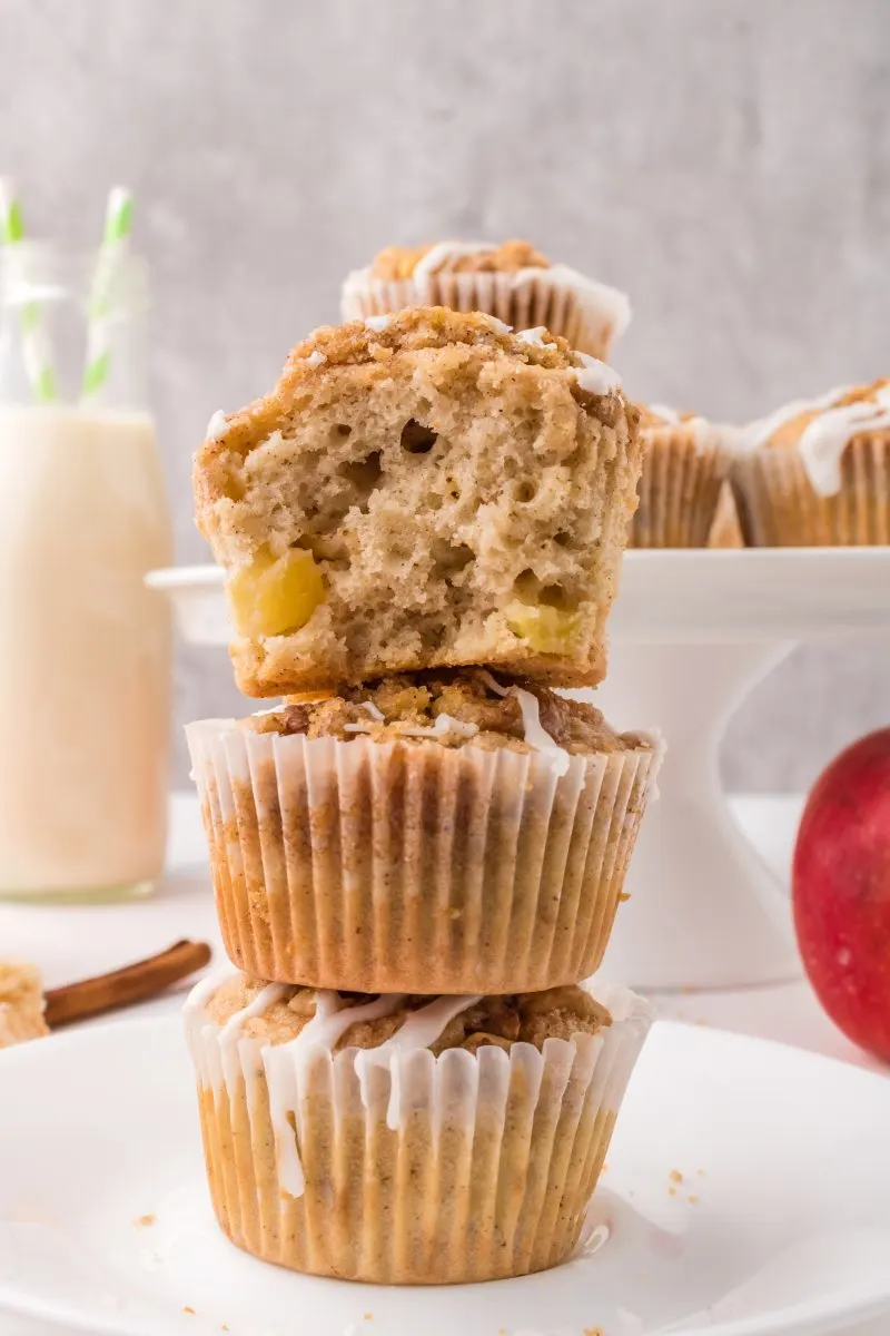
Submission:
POLYGON ((506 273, 438 273, 419 279, 376 279, 370 269, 343 285, 344 321, 388 315, 406 306, 450 306, 486 311, 515 330, 546 326, 582 353, 607 361, 630 323, 627 297, 567 265, 506 273))

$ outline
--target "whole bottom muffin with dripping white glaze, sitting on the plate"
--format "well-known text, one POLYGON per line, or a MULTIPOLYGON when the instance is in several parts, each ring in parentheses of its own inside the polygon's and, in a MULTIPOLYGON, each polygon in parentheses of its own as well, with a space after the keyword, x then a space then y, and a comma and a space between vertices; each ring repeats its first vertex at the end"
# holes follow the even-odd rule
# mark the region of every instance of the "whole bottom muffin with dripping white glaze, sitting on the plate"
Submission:
POLYGON ((231 1241, 434 1285, 571 1253, 651 1010, 616 989, 367 997, 239 975, 199 985, 185 1025, 231 1241))

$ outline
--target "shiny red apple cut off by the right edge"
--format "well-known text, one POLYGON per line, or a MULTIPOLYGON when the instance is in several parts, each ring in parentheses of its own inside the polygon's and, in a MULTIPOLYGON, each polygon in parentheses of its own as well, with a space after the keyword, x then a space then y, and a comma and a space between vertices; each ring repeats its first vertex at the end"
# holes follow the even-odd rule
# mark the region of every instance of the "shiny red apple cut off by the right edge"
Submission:
POLYGON ((890 728, 819 775, 794 850, 794 925, 837 1026, 890 1062, 890 728))

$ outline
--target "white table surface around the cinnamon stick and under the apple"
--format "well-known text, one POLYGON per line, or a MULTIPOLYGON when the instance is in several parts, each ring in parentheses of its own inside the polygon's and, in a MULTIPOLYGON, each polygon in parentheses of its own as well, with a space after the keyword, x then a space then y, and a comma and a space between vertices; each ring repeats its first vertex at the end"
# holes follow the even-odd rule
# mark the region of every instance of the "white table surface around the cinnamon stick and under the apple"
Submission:
MULTIPOLYGON (((733 799, 733 808, 765 859, 787 880, 801 799, 739 796, 733 799)), ((224 955, 213 916, 197 802, 189 794, 175 794, 171 800, 168 867, 155 892, 140 900, 96 906, 0 904, 0 957, 36 961, 47 987, 116 969, 184 937, 209 942, 219 965, 224 955)), ((189 986, 171 990, 125 1014, 175 1011, 189 986)), ((802 979, 769 989, 660 994, 656 1002, 663 1017, 778 1039, 878 1069, 831 1025, 802 979)), ((849 1328, 845 1336, 887 1336, 889 1321, 883 1317, 849 1328)), ((0 1336, 49 1336, 49 1329, 0 1315, 0 1336)))

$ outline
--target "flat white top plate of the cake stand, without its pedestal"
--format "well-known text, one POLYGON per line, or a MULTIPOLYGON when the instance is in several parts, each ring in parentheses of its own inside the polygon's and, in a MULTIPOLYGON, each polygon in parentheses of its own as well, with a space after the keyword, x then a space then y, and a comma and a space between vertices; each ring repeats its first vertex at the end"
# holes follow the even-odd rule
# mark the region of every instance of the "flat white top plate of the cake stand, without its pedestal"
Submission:
MULTIPOLYGON (((224 645, 219 566, 152 570, 192 644, 224 645)), ((809 640, 890 624, 890 546, 667 549, 624 553, 612 641, 809 640)))

